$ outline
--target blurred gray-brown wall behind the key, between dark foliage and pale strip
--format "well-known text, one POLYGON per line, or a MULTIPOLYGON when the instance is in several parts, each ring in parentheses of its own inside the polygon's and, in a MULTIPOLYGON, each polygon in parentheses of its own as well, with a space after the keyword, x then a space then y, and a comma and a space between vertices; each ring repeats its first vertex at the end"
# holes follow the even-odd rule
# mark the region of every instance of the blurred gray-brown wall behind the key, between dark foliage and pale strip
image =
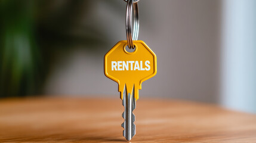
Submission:
MULTIPOLYGON (((125 40, 125 7, 121 0, 92 1, 90 16, 80 24, 104 31, 109 44, 76 50, 58 58, 45 85, 48 95, 119 98, 118 85, 103 73, 104 54, 125 40), (88 22, 90 21, 90 22, 88 22)), ((220 1, 141 0, 139 38, 158 58, 158 73, 140 90, 146 97, 218 101, 220 1)), ((82 16, 82 17, 83 17, 82 16)))

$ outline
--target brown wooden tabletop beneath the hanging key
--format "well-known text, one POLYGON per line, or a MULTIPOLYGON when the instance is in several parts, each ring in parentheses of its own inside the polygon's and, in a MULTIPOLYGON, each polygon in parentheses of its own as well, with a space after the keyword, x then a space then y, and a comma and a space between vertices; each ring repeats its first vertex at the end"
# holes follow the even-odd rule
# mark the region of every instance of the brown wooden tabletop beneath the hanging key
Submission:
MULTIPOLYGON (((0 142, 126 142, 122 101, 0 100, 0 142)), ((131 142, 256 142, 256 115, 186 101, 139 99, 131 142)))

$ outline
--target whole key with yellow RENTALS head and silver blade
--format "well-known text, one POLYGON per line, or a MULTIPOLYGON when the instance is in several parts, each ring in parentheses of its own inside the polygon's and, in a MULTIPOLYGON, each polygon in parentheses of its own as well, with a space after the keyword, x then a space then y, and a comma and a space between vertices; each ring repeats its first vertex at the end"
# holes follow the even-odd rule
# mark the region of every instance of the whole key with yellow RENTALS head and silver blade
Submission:
POLYGON ((143 41, 133 41, 135 50, 128 52, 127 41, 119 41, 104 57, 104 73, 118 83, 118 91, 124 105, 123 135, 130 141, 136 133, 132 111, 138 100, 141 83, 156 74, 156 55, 143 41))

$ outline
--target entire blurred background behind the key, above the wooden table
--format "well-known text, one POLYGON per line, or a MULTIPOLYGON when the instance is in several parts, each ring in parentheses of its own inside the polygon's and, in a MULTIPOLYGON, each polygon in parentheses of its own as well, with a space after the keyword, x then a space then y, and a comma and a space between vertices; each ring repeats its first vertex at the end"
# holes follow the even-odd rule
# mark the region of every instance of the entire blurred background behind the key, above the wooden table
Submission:
MULTIPOLYGON (((141 0, 139 38, 158 57, 143 98, 256 113, 255 0, 141 0)), ((119 98, 104 54, 126 39, 123 0, 0 1, 0 97, 119 98)))

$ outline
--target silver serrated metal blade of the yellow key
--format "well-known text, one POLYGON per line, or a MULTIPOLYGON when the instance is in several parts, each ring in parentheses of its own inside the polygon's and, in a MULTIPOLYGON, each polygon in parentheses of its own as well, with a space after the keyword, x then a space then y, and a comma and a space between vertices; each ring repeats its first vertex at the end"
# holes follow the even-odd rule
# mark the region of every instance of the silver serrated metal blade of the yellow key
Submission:
POLYGON ((132 113, 132 111, 136 107, 136 101, 134 98, 134 89, 132 89, 132 94, 127 92, 127 88, 125 86, 124 89, 124 95, 123 95, 123 105, 124 105, 124 113, 122 114, 122 117, 125 119, 124 123, 122 123, 122 127, 124 128, 123 135, 127 139, 127 141, 130 141, 131 138, 136 133, 136 126, 134 124, 135 122, 135 116, 132 113))

